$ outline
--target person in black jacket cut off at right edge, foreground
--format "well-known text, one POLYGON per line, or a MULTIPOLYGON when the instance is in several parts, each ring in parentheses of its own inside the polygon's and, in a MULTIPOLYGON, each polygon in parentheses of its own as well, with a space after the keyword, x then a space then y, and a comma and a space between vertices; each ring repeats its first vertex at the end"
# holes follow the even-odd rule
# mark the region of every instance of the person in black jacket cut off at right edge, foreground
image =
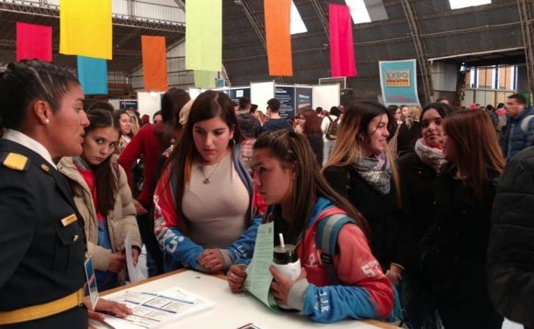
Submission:
POLYGON ((513 157, 492 211, 489 296, 506 318, 534 328, 534 147, 513 157))

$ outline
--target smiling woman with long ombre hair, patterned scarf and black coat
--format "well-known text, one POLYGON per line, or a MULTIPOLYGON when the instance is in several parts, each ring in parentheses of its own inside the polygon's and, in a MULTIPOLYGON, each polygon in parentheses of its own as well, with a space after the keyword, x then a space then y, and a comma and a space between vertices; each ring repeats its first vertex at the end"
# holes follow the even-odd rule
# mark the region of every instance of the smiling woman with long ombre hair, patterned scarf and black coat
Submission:
POLYGON ((378 102, 357 102, 344 113, 336 145, 323 168, 330 185, 362 212, 371 227, 371 250, 394 284, 401 280, 398 250, 400 188, 387 149, 393 117, 378 102))

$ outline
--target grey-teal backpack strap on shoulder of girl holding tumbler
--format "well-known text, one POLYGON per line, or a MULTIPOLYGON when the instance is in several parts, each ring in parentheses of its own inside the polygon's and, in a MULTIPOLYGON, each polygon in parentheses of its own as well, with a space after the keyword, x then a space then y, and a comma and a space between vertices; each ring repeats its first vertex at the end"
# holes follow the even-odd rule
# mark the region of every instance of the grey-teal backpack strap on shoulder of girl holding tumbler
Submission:
POLYGON ((339 231, 341 231, 341 227, 347 223, 354 223, 354 220, 345 214, 327 216, 317 223, 315 244, 321 249, 321 261, 326 264, 330 282, 334 285, 339 284, 339 280, 334 271, 332 256, 337 255, 339 252, 337 248, 337 236, 339 231))

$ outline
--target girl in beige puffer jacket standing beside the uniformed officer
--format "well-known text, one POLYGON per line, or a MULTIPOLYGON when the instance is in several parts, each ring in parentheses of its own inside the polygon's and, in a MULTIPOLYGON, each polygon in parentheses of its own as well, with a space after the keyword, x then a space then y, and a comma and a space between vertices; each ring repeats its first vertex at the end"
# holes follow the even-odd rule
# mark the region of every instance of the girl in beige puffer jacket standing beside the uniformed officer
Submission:
POLYGON ((63 157, 58 170, 67 178, 83 216, 98 289, 104 291, 124 284, 124 238, 131 236, 134 263, 143 243, 126 173, 113 157, 120 140, 119 122, 103 109, 93 109, 87 116, 90 125, 85 128, 83 152, 63 157))

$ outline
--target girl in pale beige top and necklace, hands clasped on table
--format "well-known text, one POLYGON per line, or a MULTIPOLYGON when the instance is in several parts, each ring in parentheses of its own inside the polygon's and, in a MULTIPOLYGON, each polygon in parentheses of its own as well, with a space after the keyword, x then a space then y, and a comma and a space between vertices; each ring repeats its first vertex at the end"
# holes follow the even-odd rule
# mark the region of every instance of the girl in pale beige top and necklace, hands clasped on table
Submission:
POLYGON ((226 271, 252 255, 261 216, 254 217, 242 141, 232 100, 213 90, 200 94, 154 192, 165 271, 226 271))

